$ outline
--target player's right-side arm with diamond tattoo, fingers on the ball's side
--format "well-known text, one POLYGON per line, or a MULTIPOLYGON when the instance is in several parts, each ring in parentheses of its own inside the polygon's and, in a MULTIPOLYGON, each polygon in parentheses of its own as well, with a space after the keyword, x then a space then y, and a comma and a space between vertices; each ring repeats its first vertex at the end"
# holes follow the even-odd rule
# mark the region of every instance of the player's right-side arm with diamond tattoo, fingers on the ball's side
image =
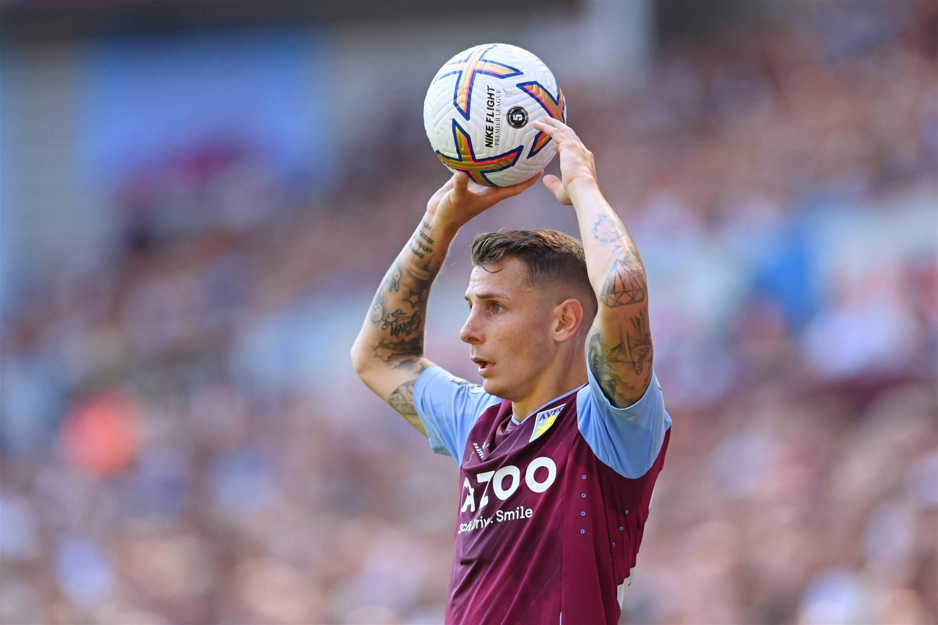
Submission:
POLYGON ((556 143, 563 179, 545 176, 544 185, 576 211, 599 304, 590 330, 589 366, 613 405, 625 408, 642 398, 652 375, 644 266, 622 220, 599 192, 592 153, 569 126, 546 122, 534 126, 556 143))

